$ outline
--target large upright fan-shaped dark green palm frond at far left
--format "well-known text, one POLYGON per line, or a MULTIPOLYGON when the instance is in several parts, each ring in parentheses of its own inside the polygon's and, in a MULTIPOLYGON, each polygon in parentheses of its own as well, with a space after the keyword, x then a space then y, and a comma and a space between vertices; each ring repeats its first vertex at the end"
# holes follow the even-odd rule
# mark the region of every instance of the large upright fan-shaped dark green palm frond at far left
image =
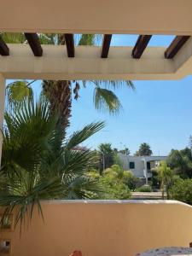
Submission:
MULTIPOLYGON (((3 169, 9 163, 32 170, 48 150, 49 141, 55 136, 56 118, 49 116, 44 103, 24 102, 22 107, 4 114, 3 169)), ((8 165, 8 167, 6 167, 8 165)))

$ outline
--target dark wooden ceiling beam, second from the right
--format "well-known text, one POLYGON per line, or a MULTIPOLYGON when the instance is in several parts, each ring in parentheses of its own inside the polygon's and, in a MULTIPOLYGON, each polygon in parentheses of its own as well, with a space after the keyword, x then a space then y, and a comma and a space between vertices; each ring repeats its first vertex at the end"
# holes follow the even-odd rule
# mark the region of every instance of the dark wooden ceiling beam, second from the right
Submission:
POLYGON ((143 51, 147 47, 148 42, 149 42, 151 37, 152 37, 152 35, 140 35, 137 38, 136 45, 132 49, 132 57, 134 59, 140 59, 141 58, 141 56, 143 55, 143 51))

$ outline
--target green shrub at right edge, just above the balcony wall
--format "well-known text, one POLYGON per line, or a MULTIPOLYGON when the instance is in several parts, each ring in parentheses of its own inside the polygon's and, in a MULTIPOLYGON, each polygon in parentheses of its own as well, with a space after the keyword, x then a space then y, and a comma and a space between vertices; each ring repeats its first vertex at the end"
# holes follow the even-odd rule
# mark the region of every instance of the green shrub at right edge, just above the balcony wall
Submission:
POLYGON ((178 178, 172 186, 172 199, 192 205, 192 179, 178 178))

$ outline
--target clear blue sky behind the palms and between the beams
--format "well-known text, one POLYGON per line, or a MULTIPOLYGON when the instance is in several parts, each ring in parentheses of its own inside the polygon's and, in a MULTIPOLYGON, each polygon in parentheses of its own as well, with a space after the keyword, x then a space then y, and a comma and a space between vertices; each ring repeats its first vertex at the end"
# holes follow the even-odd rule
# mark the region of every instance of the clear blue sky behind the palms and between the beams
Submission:
MULTIPOLYGON (((148 45, 168 46, 173 36, 154 36, 148 45)), ((111 45, 134 45, 137 35, 113 35, 111 45)), ((192 77, 178 81, 133 81, 136 91, 116 90, 123 109, 118 116, 98 113, 93 105, 92 84, 80 90, 78 102, 73 100, 69 133, 92 121, 105 120, 107 125, 91 137, 85 146, 112 143, 114 148, 128 147, 134 154, 141 143, 149 143, 154 155, 169 154, 172 148, 182 149, 192 134, 192 77)), ((35 94, 41 81, 33 84, 35 94)))

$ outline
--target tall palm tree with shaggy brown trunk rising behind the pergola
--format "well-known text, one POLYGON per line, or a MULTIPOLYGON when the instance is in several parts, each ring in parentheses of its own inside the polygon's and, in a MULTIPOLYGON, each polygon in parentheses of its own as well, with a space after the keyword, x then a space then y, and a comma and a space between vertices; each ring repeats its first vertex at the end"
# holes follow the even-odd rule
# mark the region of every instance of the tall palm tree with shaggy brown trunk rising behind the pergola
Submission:
MULTIPOLYGON (((2 34, 3 39, 7 43, 26 43, 23 35, 14 34, 13 37, 9 33, 2 34)), ((42 44, 65 44, 65 37, 61 34, 40 34, 40 41, 42 44)), ((96 44, 98 37, 96 35, 84 34, 81 35, 79 39, 79 45, 94 45, 96 44)), ((121 108, 119 98, 114 94, 113 90, 119 88, 121 85, 125 85, 131 89, 134 89, 134 85, 131 81, 90 81, 94 84, 94 104, 98 110, 107 110, 109 113, 118 113, 121 108)), ((71 116, 71 106, 72 106, 72 91, 74 93, 74 98, 77 100, 79 98, 79 90, 81 87, 85 87, 85 81, 82 84, 79 81, 43 81, 43 94, 49 99, 51 113, 60 113, 60 123, 64 130, 66 130, 69 125, 69 119, 71 116)), ((15 89, 20 90, 18 81, 9 85, 8 96, 10 100, 15 99, 15 89), (14 89, 14 90, 12 90, 14 89)), ((20 96, 27 96, 30 90, 30 86, 27 81, 22 82, 21 86, 22 92, 20 96), (26 89, 23 84, 26 84, 26 89)), ((18 98, 16 98, 18 100, 18 98)))

